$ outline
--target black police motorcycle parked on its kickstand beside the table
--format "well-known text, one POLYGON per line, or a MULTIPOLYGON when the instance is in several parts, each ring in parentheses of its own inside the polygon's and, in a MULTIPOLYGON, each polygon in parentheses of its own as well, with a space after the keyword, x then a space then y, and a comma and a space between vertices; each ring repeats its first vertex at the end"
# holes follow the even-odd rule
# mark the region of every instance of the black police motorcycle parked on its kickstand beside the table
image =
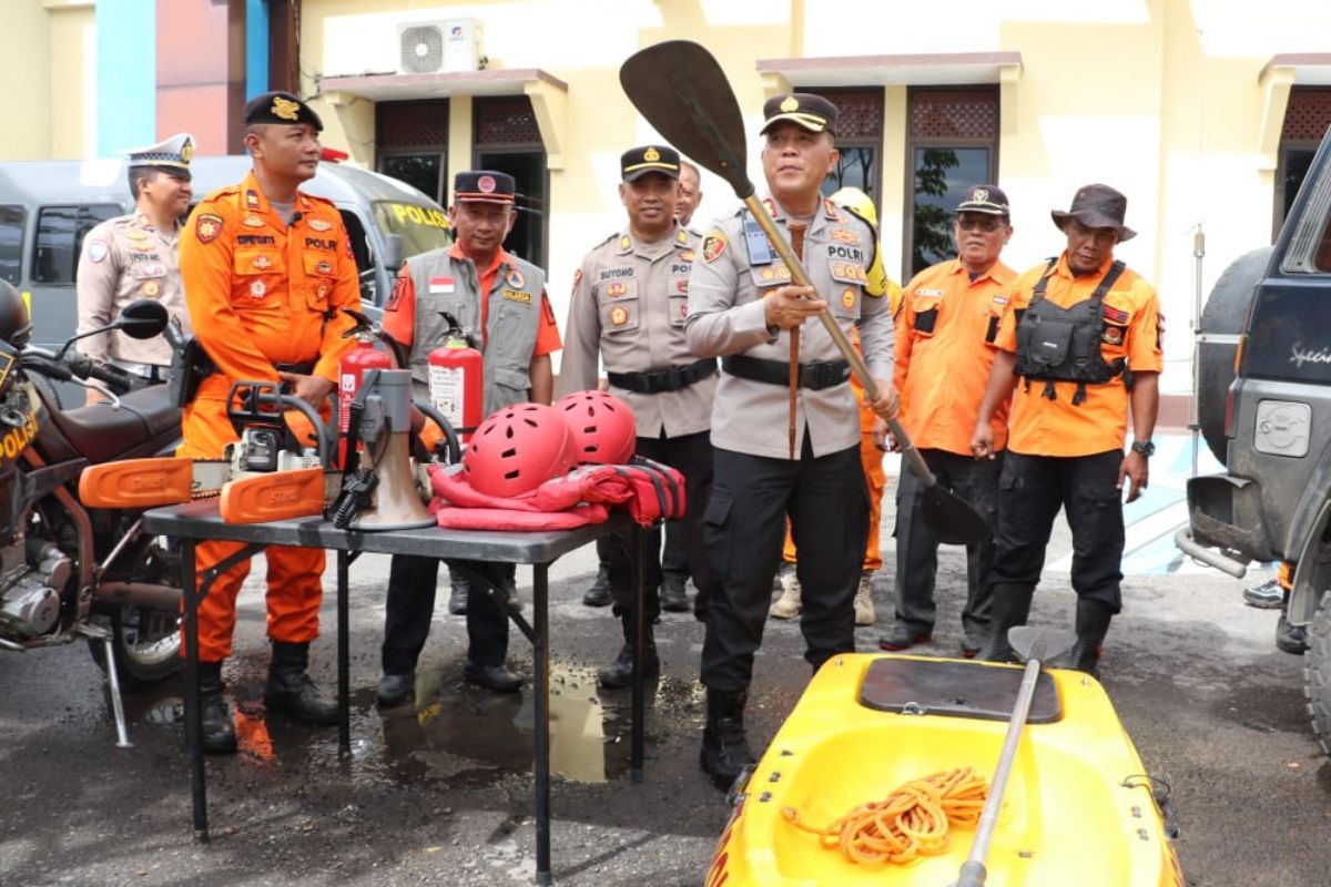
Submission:
POLYGON ((106 673, 120 745, 128 745, 120 685, 161 681, 180 668, 180 556, 142 531, 141 512, 79 500, 87 465, 169 452, 180 410, 168 386, 73 351, 79 338, 120 330, 136 339, 168 328, 150 299, 59 351, 27 346, 29 327, 0 330, 0 649, 87 641, 106 673), (52 383, 105 400, 61 410, 52 383))

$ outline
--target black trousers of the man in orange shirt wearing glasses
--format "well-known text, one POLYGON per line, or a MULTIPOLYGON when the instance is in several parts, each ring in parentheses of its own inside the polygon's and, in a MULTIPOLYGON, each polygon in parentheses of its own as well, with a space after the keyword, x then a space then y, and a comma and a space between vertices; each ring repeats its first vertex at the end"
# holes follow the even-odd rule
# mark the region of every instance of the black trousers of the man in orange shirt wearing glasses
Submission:
MULTIPOLYGON (((998 525, 998 472, 1004 453, 996 459, 974 459, 946 449, 921 449, 925 464, 950 489, 970 503, 990 529, 998 525)), ((924 521, 925 485, 909 467, 902 465, 897 484, 897 621, 912 630, 933 630, 934 580, 938 572, 938 539, 924 521)), ((993 536, 966 545, 966 608, 961 625, 969 633, 981 633, 989 625, 993 602, 993 536)))

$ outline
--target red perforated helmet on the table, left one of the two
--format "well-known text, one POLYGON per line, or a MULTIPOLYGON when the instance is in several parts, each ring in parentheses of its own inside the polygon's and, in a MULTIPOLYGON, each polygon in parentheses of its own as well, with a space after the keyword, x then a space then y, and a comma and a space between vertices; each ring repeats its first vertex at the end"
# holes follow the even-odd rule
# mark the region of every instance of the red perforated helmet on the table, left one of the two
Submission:
POLYGON ((487 496, 520 496, 576 461, 563 414, 539 403, 504 407, 471 435, 462 464, 467 481, 487 496))

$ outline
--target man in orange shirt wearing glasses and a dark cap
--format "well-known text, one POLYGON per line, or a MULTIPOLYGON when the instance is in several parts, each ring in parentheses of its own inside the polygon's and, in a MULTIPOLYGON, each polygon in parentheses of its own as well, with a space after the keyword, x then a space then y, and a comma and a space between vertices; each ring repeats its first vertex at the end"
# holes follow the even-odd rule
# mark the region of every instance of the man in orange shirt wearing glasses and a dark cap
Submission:
MULTIPOLYGON (((897 317, 901 424, 938 483, 974 505, 990 527, 998 513, 998 472, 1008 438, 1008 404, 990 419, 998 457, 976 460, 970 431, 994 360, 998 320, 1017 273, 998 261, 1012 238, 1008 195, 994 185, 968 188, 953 226, 957 258, 920 271, 897 317)), ((905 650, 933 636, 938 540, 924 521, 924 484, 910 469, 897 487, 897 621, 878 641, 905 650)), ((993 539, 966 547, 966 606, 961 653, 974 656, 989 626, 993 539)))

